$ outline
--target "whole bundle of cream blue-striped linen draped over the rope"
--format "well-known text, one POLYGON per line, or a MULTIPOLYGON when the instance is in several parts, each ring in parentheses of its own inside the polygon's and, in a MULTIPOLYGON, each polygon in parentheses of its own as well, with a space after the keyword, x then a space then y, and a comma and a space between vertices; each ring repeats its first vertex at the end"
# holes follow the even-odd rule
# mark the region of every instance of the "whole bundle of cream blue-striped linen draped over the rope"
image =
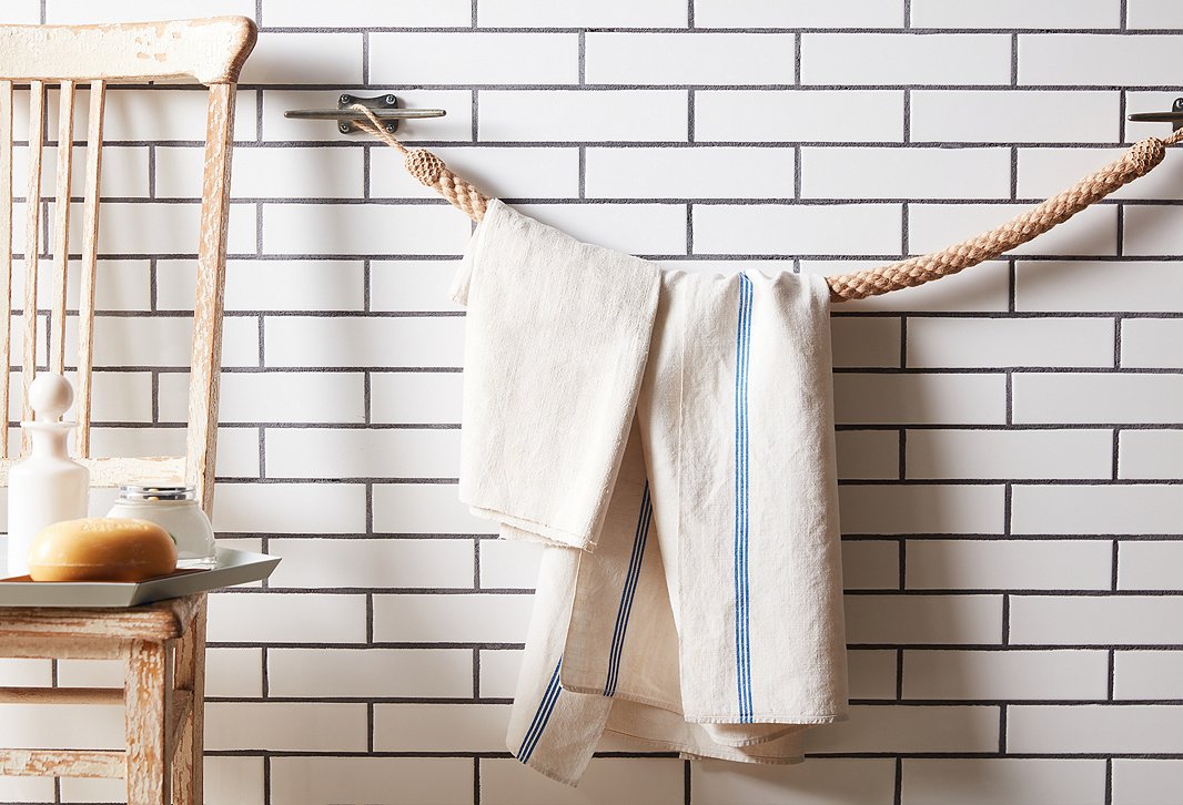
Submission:
POLYGON ((461 500, 548 544, 510 751, 570 784, 605 733, 800 760, 847 707, 825 279, 660 271, 493 201, 453 291, 461 500))

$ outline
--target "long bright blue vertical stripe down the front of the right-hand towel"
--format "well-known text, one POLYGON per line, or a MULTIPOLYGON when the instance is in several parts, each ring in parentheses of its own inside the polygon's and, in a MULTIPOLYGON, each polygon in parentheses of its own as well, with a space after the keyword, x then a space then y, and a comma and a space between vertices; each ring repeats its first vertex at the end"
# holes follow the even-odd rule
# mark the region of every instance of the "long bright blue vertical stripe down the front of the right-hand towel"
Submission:
POLYGON ((751 723, 751 636, 748 614, 748 364, 751 357, 752 286, 739 274, 739 314, 736 325, 736 687, 739 722, 751 723))

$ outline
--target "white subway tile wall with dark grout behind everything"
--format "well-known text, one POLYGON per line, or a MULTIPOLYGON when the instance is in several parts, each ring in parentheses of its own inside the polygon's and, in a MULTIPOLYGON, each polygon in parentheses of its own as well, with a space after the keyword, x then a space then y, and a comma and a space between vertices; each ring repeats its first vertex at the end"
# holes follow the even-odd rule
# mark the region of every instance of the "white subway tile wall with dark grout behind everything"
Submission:
MULTIPOLYGON (((157 6, 9 0, 0 21, 157 6)), ((1013 255, 834 307, 851 722, 812 732, 789 767, 606 742, 571 791, 502 740, 538 550, 457 500, 464 311, 447 291, 470 222, 384 145, 283 117, 393 92, 447 110, 402 124, 405 139, 577 236, 671 268, 842 273, 972 235, 1165 134, 1123 117, 1183 95, 1178 4, 186 0, 167 14, 246 14, 261 32, 238 95, 215 520, 227 545, 283 563, 211 599, 211 805, 1178 799, 1183 155, 1013 255)), ((103 454, 183 435, 202 104, 109 95, 103 454)), ((26 118, 20 90, 18 141, 26 118)), ((112 673, 8 660, 0 686, 112 673)), ((5 708, 12 746, 122 740, 114 709, 5 708)), ((0 803, 119 796, 0 777, 0 803)))

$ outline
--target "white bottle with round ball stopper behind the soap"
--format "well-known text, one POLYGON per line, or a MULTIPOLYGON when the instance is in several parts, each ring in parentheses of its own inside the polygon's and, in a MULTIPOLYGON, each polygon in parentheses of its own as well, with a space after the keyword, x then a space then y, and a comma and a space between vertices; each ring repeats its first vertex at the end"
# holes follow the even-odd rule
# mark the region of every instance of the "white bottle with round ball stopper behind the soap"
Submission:
POLYGON ((28 548, 46 526, 86 517, 90 472, 72 461, 66 440, 77 422, 59 422, 73 404, 62 375, 40 372, 28 387, 33 421, 28 455, 8 473, 8 576, 28 572, 28 548))

